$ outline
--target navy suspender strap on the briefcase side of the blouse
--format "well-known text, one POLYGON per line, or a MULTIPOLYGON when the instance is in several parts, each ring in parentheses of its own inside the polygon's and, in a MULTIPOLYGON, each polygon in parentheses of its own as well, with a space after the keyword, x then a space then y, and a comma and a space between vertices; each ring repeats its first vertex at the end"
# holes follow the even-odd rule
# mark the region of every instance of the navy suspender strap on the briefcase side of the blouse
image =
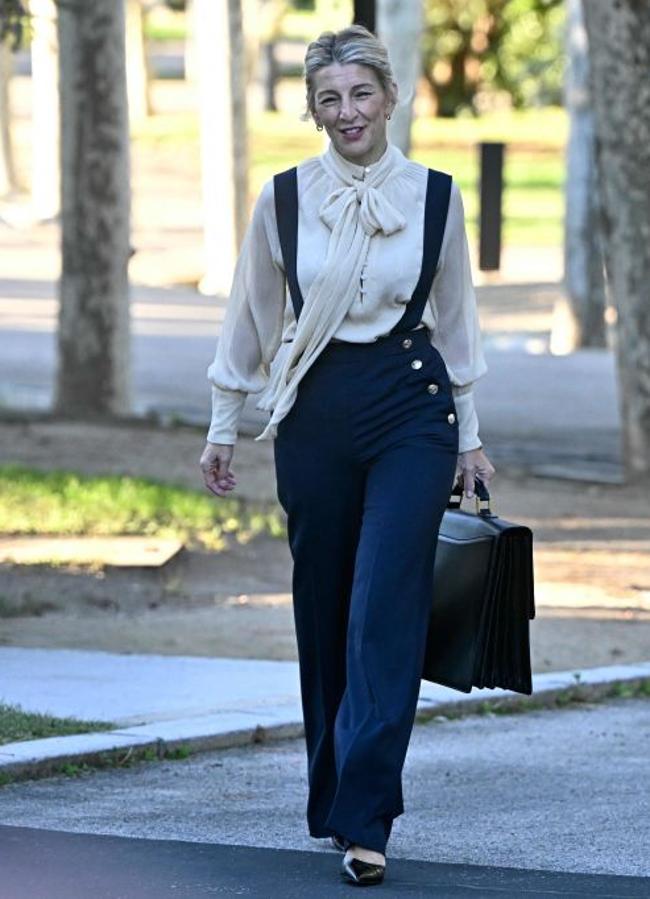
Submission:
POLYGON ((427 194, 424 201, 422 269, 411 299, 406 304, 404 315, 392 329, 391 334, 411 331, 420 324, 438 267, 450 196, 451 176, 444 172, 437 172, 435 169, 429 169, 427 194))

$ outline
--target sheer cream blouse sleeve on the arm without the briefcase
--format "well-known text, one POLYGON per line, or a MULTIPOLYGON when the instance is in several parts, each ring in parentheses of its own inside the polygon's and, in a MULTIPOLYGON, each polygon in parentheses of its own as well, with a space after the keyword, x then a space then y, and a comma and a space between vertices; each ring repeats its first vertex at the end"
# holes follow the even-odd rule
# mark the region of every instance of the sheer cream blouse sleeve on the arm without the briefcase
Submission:
POLYGON ((233 276, 214 360, 210 443, 234 444, 249 393, 259 393, 282 338, 285 276, 275 225, 273 182, 255 205, 233 276))

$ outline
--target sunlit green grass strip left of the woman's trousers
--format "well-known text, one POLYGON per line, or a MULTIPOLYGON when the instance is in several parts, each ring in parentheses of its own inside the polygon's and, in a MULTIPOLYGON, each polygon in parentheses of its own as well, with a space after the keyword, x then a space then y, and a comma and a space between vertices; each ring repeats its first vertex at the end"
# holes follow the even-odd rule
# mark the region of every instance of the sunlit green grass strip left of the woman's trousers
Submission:
POLYGON ((155 535, 223 549, 226 534, 284 536, 277 508, 128 476, 0 466, 0 534, 155 535))

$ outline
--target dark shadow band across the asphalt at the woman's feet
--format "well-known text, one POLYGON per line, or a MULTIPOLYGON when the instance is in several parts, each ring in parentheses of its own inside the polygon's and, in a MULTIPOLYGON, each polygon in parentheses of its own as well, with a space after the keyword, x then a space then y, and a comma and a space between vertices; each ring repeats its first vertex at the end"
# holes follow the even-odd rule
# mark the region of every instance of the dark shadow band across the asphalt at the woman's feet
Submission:
MULTIPOLYGON (((0 826, 2 899, 349 896, 340 856, 0 826)), ((388 896, 646 897, 641 877, 390 860, 388 896)))

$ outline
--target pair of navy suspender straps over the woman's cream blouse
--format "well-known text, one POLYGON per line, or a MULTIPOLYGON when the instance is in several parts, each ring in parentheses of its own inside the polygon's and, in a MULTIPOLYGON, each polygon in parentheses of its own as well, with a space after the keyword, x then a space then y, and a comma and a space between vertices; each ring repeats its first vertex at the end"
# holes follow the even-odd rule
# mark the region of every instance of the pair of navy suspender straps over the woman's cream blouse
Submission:
MULTIPOLYGON (((280 248, 297 321, 302 311, 303 298, 296 270, 298 258, 298 175, 296 167, 275 175, 273 188, 280 248)), ((424 202, 424 239, 420 277, 411 299, 406 304, 403 316, 392 329, 391 334, 411 331, 420 324, 438 267, 450 196, 451 176, 429 169, 424 202)))

